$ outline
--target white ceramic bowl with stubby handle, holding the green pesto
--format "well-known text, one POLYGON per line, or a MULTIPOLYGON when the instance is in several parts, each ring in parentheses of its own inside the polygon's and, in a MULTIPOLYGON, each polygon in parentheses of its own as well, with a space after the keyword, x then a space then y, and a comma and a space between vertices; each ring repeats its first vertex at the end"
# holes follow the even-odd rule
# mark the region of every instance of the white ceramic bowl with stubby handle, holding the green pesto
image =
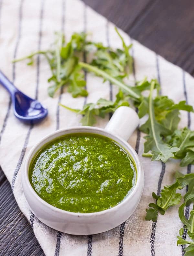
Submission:
POLYGON ((25 168, 23 169, 22 173, 22 189, 31 211, 40 221, 49 227, 74 235, 97 234, 120 225, 135 211, 144 188, 144 171, 139 161, 138 155, 125 139, 129 137, 134 128, 137 126, 138 119, 136 113, 134 113, 135 111, 132 109, 128 107, 120 107, 119 109, 114 113, 111 121, 108 123, 105 129, 89 126, 79 126, 58 130, 47 135, 41 141, 39 141, 27 156, 25 168), (126 113, 127 118, 122 119, 127 119, 128 122, 125 120, 125 125, 123 125, 123 122, 121 123, 121 117, 123 115, 126 117, 126 113), (130 114, 132 119, 128 118, 128 114, 130 114), (68 212, 48 204, 43 199, 41 199, 32 188, 29 181, 28 169, 34 154, 45 143, 48 143, 54 138, 73 133, 93 133, 106 136, 121 145, 121 147, 123 147, 134 159, 137 169, 136 183, 132 188, 132 191, 124 198, 120 204, 110 209, 95 213, 68 212), (115 133, 119 133, 120 136, 115 135, 115 133), (125 139, 123 139, 121 136, 125 139))

